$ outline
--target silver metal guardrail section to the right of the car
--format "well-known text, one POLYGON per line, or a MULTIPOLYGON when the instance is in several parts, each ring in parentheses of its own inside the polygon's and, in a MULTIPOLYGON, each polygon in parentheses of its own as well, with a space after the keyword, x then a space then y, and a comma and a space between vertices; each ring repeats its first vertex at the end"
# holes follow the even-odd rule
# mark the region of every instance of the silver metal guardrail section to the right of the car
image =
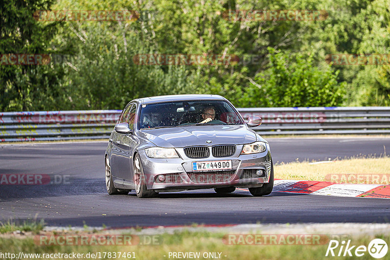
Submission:
POLYGON ((390 107, 241 108, 244 118, 258 115, 266 134, 388 134, 390 107))

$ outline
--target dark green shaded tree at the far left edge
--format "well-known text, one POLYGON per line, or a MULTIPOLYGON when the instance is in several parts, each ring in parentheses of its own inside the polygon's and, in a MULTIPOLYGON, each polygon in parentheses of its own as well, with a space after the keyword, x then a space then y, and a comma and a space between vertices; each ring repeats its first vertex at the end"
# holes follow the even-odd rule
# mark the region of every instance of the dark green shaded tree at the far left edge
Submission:
MULTIPOLYGON (((57 23, 33 14, 53 0, 7 0, 0 4, 0 54, 51 54, 57 23)), ((61 71, 47 65, 0 65, 0 111, 40 110, 59 102, 61 71)))

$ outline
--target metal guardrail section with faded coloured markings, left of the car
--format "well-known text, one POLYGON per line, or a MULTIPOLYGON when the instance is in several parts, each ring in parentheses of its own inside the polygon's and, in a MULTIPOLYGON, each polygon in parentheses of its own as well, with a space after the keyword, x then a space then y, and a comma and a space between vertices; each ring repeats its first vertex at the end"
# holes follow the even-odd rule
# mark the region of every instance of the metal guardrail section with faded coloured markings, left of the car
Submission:
POLYGON ((121 110, 0 113, 0 142, 108 138, 121 110))

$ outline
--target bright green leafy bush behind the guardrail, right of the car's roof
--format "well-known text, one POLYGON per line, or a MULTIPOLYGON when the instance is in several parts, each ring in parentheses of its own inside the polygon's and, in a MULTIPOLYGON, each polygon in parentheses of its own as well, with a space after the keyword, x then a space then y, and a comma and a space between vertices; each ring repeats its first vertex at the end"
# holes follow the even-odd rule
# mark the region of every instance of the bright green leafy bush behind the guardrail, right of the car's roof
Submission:
POLYGON ((256 75, 244 100, 256 107, 338 106, 345 83, 337 82, 338 71, 313 66, 312 55, 276 52, 269 48, 268 69, 256 75))

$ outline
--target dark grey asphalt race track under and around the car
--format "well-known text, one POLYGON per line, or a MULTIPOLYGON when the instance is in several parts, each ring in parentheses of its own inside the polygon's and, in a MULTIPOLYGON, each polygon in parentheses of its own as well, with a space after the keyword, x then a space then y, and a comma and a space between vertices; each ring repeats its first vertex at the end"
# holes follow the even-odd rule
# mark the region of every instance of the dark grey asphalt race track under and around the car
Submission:
MULTIPOLYGON (((390 138, 270 138, 273 162, 379 156, 390 138)), ((138 199, 108 195, 104 184, 106 142, 0 145, 0 174, 48 174, 52 184, 0 185, 0 221, 44 219, 48 225, 111 227, 191 223, 388 223, 387 199, 273 192, 252 197, 236 190, 162 193, 138 199)))

